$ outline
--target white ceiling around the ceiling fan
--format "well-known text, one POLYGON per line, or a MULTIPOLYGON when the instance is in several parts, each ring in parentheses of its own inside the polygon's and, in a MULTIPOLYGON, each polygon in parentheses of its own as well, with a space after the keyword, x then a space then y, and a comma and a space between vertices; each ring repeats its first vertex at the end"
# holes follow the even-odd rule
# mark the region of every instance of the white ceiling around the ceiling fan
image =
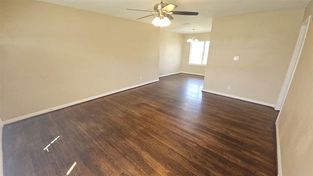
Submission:
MULTIPOLYGON (((154 5, 160 0, 42 0, 68 7, 88 10, 129 20, 136 20, 152 13, 131 11, 139 9, 154 11, 154 5)), ((199 12, 198 16, 172 15, 174 20, 163 30, 180 34, 211 32, 213 18, 236 16, 283 9, 305 8, 310 0, 163 0, 163 3, 175 4, 174 11, 199 12)), ((155 16, 137 20, 151 23, 155 16)))

